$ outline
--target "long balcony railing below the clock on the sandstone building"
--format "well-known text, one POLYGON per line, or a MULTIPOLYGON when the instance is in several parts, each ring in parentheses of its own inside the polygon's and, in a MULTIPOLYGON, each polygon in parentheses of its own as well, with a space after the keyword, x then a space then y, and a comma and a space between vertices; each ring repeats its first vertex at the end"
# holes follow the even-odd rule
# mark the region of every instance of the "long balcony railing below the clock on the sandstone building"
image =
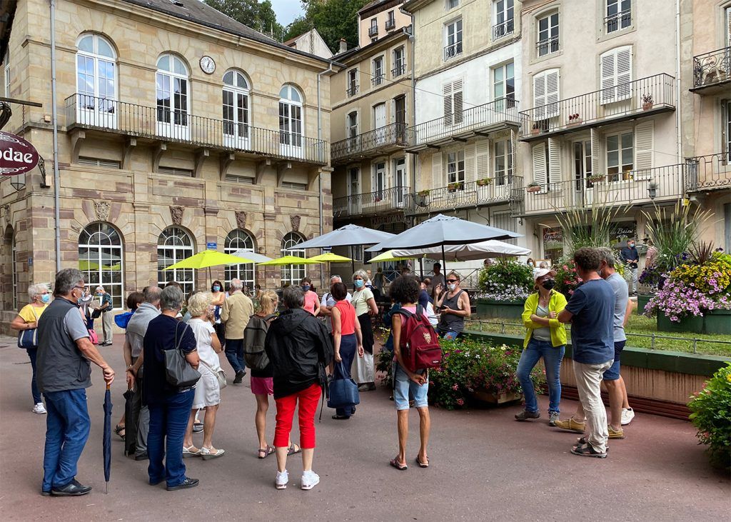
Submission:
POLYGON ((295 132, 260 129, 183 110, 74 94, 66 99, 67 127, 99 129, 198 147, 327 164, 327 143, 295 132))

